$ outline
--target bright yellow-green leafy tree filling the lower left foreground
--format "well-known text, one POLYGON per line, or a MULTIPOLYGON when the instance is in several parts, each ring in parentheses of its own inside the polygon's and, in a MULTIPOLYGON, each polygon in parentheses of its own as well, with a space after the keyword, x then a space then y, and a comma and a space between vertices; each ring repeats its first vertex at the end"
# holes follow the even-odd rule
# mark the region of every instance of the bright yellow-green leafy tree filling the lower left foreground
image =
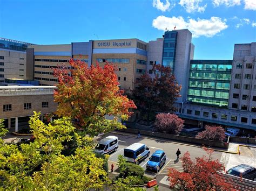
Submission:
POLYGON ((105 161, 93 153, 93 139, 76 133, 69 118, 45 125, 39 115, 35 112, 29 122, 33 143, 0 142, 0 189, 84 190, 107 185, 105 161), (63 155, 62 143, 71 139, 77 142, 75 154, 63 155))

